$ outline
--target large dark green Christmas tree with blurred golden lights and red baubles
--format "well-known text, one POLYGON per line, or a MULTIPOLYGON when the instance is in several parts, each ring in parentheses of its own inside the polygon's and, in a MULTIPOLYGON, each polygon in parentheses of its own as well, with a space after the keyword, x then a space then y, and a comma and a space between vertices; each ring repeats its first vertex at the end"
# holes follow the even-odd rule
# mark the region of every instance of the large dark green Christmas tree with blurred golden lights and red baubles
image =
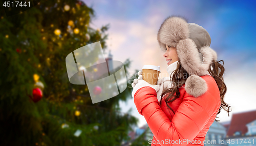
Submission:
MULTIPOLYGON (((0 145, 120 145, 138 120, 121 113, 131 84, 92 104, 87 85, 71 84, 65 58, 100 41, 109 25, 90 27, 94 10, 81 1, 40 1, 7 17, 0 9, 0 145)), ((130 60, 124 62, 129 68, 130 60)))

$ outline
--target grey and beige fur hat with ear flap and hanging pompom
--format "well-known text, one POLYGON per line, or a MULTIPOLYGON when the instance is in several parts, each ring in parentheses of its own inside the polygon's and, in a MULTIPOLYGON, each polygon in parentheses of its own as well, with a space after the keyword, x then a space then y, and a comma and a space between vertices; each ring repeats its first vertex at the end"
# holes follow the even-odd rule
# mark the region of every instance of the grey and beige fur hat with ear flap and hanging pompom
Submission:
POLYGON ((199 76, 208 74, 212 60, 217 60, 217 53, 210 48, 210 35, 198 24, 187 23, 184 18, 167 17, 161 24, 157 40, 165 51, 167 44, 177 48, 182 67, 190 75, 185 83, 188 94, 198 97, 207 91, 205 80, 199 76))

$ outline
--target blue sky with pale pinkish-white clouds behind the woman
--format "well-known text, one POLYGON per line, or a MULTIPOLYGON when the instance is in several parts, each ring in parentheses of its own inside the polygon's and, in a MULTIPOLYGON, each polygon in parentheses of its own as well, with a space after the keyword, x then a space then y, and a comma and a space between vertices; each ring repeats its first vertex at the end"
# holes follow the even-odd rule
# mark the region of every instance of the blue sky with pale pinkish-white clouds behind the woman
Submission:
MULTIPOLYGON (((203 26, 211 37, 210 47, 224 60, 225 102, 232 113, 256 109, 256 1, 107 1, 86 0, 95 10, 90 26, 100 28, 110 24, 106 41, 114 60, 130 58, 131 75, 143 65, 160 65, 160 77, 167 76, 167 63, 157 42, 157 32, 170 15, 185 17, 189 23, 203 26)), ((108 52, 108 51, 106 51, 108 52)), ((120 103, 123 111, 133 108, 133 114, 145 124, 133 103, 120 103)), ((218 114, 228 121, 227 112, 218 114)))

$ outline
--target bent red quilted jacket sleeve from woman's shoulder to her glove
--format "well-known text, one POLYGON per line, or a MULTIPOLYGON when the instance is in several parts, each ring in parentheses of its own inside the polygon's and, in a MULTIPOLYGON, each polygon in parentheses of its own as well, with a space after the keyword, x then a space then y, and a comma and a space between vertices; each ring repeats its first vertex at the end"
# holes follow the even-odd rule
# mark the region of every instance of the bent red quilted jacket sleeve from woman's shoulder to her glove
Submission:
MULTIPOLYGON (((211 87, 209 87, 211 88, 211 87)), ((142 87, 134 96, 135 105, 150 127, 154 137, 161 141, 161 145, 187 145, 207 124, 210 116, 219 106, 216 88, 207 91, 200 97, 184 94, 183 101, 177 109, 172 121, 159 106, 157 93, 151 87, 142 87), (215 96, 217 95, 217 96, 215 96)))

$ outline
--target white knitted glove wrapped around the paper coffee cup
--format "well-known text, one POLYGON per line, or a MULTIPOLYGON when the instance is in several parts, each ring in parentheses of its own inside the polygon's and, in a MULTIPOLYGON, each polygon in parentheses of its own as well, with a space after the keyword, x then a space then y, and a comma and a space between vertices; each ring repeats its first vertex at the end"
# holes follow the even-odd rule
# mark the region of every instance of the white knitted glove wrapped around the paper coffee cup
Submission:
MULTIPOLYGON (((137 79, 137 78, 134 79, 134 80, 133 80, 133 83, 132 83, 132 87, 133 87, 132 96, 133 96, 133 98, 134 98, 135 93, 136 93, 141 87, 144 87, 144 86, 150 86, 150 87, 152 87, 153 89, 155 89, 156 92, 158 93, 158 91, 160 90, 160 85, 159 85, 159 84, 157 84, 157 85, 152 85, 152 84, 150 84, 150 83, 144 81, 144 80, 142 79, 142 71, 139 71, 139 72, 138 72, 138 75, 139 75, 138 79, 137 79)), ((157 94, 157 96, 158 96, 158 94, 157 94)), ((161 96, 161 95, 160 95, 160 96, 161 96)))

